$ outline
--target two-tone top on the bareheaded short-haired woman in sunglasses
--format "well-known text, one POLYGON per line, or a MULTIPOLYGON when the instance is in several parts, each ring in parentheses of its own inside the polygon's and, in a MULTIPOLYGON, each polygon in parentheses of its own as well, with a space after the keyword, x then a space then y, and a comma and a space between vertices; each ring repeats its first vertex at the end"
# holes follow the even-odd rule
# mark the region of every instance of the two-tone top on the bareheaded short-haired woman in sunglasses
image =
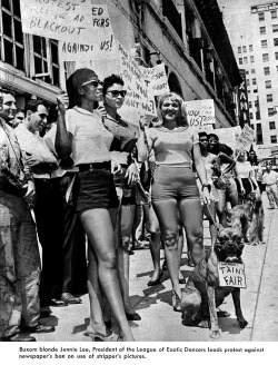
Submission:
POLYGON ((116 119, 110 116, 105 118, 106 128, 113 135, 115 139, 110 147, 110 156, 118 164, 127 165, 128 156, 132 152, 137 142, 137 132, 119 115, 116 119))

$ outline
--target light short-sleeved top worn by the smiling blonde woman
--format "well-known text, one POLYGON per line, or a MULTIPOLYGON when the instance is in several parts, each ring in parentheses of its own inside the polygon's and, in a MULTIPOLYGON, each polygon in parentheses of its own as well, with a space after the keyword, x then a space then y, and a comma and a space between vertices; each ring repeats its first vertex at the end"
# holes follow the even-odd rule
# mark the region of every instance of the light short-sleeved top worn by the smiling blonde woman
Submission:
POLYGON ((149 149, 153 149, 157 165, 189 165, 192 162, 192 147, 199 144, 199 136, 191 127, 167 129, 149 128, 149 149))

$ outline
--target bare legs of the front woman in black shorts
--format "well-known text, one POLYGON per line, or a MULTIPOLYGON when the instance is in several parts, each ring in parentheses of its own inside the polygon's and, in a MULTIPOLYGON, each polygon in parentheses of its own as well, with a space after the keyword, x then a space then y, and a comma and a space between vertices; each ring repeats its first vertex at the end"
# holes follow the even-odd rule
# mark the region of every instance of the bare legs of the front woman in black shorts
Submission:
MULTIPOLYGON (((116 265, 116 248, 113 241, 113 228, 109 211, 107 209, 90 209, 80 215, 81 223, 89 239, 89 250, 92 250, 97 259, 97 275, 107 300, 113 312, 123 334, 125 341, 133 341, 133 336, 128 324, 119 285, 119 276, 116 265)), ((90 254, 91 256, 91 254, 90 254)), ((92 284, 90 287, 90 310, 91 325, 96 332, 101 335, 105 324, 102 318, 101 305, 97 292, 93 293, 97 278, 96 270, 89 272, 93 277, 89 278, 92 284)))

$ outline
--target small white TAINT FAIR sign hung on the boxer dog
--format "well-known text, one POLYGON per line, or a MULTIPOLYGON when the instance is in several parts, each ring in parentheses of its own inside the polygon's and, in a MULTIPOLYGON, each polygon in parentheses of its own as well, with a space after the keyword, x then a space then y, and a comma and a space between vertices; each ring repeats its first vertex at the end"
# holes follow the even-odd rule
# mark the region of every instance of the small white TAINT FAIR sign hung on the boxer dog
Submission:
POLYGON ((246 288, 245 265, 237 263, 218 263, 219 286, 246 288))

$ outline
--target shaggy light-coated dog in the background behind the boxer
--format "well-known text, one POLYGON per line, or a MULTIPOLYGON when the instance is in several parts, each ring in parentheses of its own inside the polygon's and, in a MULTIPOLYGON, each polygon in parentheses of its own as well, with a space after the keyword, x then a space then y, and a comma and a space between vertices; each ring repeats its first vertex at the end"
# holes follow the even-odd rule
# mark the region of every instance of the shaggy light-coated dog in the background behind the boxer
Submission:
POLYGON ((264 244, 265 214, 261 196, 252 191, 247 199, 247 203, 230 210, 231 227, 241 230, 245 241, 249 245, 264 244))

